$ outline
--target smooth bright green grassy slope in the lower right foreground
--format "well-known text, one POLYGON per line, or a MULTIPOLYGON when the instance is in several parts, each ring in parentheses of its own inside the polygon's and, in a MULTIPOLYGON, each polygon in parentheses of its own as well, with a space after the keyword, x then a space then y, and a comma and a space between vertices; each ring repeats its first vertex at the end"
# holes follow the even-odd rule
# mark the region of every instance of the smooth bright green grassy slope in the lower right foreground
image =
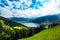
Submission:
POLYGON ((30 38, 19 40, 60 40, 60 25, 43 30, 30 38))

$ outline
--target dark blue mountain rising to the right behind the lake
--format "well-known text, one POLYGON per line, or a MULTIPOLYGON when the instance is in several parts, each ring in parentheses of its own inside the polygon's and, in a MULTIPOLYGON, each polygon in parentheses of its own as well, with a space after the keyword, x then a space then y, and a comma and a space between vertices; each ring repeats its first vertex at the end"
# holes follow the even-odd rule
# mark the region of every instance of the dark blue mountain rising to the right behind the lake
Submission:
POLYGON ((47 20, 49 22, 60 21, 60 14, 39 17, 39 18, 36 18, 36 19, 32 20, 31 22, 34 22, 34 23, 42 23, 42 22, 45 22, 47 20))

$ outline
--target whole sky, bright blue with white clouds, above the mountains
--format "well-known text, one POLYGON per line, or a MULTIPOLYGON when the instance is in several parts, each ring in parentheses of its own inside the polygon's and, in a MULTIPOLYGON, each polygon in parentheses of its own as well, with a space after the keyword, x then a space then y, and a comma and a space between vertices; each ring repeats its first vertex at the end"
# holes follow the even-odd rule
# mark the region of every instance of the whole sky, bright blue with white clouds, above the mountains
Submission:
POLYGON ((0 0, 0 16, 37 18, 60 14, 60 0, 0 0))

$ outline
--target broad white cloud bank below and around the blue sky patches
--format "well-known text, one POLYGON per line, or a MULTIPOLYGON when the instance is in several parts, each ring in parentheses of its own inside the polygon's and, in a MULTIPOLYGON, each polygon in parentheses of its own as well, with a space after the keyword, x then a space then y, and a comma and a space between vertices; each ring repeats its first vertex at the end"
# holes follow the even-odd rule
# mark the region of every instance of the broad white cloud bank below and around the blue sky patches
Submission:
MULTIPOLYGON (((12 3, 15 3, 15 6, 18 8, 19 6, 21 6, 21 3, 23 2, 21 0, 21 3, 19 2, 10 2, 8 1, 9 6, 5 6, 5 8, 0 7, 0 12, 1 12, 1 16, 4 17, 24 17, 24 18, 31 18, 31 17, 41 17, 41 16, 46 16, 46 15, 53 15, 53 14, 60 14, 60 0, 50 0, 50 2, 48 3, 43 3, 43 0, 41 0, 41 3, 43 3, 43 7, 39 7, 39 9, 32 9, 32 8, 28 8, 26 10, 10 10, 13 9, 13 5, 12 3)), ((24 2, 26 2, 25 4, 27 4, 28 6, 30 6, 31 1, 26 1, 24 0, 24 2)))

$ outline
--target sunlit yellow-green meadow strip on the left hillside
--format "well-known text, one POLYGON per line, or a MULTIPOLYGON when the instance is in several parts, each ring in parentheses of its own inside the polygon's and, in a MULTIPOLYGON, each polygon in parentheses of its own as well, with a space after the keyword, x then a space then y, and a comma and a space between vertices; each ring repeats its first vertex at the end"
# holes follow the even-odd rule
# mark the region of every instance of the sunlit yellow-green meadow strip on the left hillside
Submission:
MULTIPOLYGON (((6 25, 4 22, 5 22, 4 20, 0 20, 1 26, 2 26, 2 28, 4 28, 5 30, 11 30, 11 31, 13 31, 13 29, 17 29, 17 30, 20 30, 20 29, 23 29, 23 28, 26 29, 26 27, 24 27, 24 26, 22 26, 22 25, 16 25, 16 24, 14 24, 15 26, 11 27, 11 26, 9 26, 9 25, 6 25)), ((7 22, 7 21, 6 21, 6 22, 7 22)), ((13 22, 12 22, 12 25, 13 25, 13 22)))

